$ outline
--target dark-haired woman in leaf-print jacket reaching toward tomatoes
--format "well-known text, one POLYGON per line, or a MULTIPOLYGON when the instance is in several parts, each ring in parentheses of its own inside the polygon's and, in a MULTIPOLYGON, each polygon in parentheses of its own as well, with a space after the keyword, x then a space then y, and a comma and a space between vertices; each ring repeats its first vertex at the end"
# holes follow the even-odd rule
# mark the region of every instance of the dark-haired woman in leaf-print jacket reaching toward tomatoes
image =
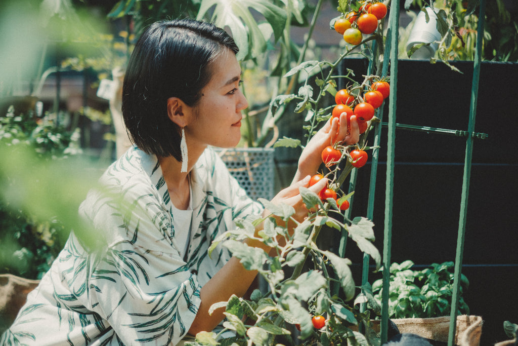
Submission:
MULTIPOLYGON (((223 30, 193 20, 154 23, 141 36, 123 86, 135 147, 80 207, 100 245, 72 232, 1 344, 175 345, 222 322, 223 309, 208 313, 213 303, 246 293, 257 272, 221 246, 207 254, 235 218, 268 215, 209 149, 240 139, 248 104, 237 51, 223 30)), ((299 187, 308 186, 330 141, 358 140, 352 118, 351 134, 334 120, 313 137, 292 185, 273 202, 292 205, 299 219, 307 215, 299 187)))

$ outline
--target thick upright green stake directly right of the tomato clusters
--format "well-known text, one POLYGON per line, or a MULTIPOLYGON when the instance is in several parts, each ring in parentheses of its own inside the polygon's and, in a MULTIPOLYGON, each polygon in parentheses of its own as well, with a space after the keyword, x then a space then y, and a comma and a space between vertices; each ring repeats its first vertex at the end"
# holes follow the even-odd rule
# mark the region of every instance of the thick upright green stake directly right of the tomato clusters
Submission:
POLYGON ((390 264, 392 246, 392 200, 394 190, 394 151, 396 140, 396 94, 397 94, 397 53, 399 34, 399 1, 393 1, 390 9, 389 32, 390 39, 390 87, 389 96, 389 126, 387 132, 387 169, 385 188, 385 222, 383 229, 383 291, 381 296, 381 344, 387 341, 389 330, 389 291, 390 291, 390 264))

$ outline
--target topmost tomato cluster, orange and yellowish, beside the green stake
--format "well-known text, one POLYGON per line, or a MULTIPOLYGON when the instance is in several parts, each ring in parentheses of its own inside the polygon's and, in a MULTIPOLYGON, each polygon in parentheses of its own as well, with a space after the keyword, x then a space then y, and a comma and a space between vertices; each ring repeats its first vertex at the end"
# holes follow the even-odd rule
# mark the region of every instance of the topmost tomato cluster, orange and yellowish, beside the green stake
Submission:
POLYGON ((358 11, 351 11, 335 21, 336 32, 353 45, 362 42, 363 34, 372 34, 378 29, 379 21, 385 18, 387 7, 382 2, 365 2, 358 11))

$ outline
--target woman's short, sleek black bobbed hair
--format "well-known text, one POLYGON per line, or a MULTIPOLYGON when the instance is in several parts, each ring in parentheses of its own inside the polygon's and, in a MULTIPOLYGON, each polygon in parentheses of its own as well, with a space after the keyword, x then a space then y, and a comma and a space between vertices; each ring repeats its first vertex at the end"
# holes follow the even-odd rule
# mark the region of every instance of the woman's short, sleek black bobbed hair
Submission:
POLYGON ((193 19, 155 22, 142 33, 122 88, 122 115, 135 145, 181 161, 180 128, 167 115, 167 99, 195 106, 211 78, 208 66, 225 48, 239 50, 224 30, 193 19))

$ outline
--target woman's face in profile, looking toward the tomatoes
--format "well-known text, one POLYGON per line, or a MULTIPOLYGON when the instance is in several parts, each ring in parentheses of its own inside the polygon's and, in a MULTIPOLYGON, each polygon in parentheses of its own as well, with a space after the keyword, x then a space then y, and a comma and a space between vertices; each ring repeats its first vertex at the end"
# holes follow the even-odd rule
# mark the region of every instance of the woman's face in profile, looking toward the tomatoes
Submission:
POLYGON ((234 147, 241 138, 241 110, 248 107, 239 89, 241 67, 232 51, 225 50, 209 66, 212 78, 202 89, 192 122, 185 127, 189 146, 234 147))

